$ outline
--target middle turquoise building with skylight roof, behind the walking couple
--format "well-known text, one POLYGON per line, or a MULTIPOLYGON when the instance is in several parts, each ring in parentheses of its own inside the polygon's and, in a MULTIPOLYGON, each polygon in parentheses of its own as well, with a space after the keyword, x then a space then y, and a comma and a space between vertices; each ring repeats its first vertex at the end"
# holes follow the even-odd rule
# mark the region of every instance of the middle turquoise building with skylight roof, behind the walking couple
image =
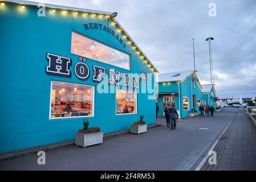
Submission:
POLYGON ((202 86, 196 71, 183 71, 159 74, 157 82, 157 103, 159 116, 166 105, 174 105, 181 117, 188 117, 189 112, 199 112, 202 103, 202 86))

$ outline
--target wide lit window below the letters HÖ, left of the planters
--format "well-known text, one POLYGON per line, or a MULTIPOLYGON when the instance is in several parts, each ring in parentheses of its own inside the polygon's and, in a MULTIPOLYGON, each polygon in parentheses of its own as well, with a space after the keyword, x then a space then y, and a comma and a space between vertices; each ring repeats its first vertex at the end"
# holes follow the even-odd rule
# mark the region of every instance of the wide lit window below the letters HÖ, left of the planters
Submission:
POLYGON ((50 119, 93 116, 93 104, 93 86, 51 82, 50 119))

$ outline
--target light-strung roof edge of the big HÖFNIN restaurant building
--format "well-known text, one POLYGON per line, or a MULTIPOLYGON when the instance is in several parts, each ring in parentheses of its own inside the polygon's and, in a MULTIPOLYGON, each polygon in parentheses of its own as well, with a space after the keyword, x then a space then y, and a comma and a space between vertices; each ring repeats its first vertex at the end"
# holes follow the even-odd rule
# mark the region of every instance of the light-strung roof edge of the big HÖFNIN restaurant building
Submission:
MULTIPOLYGON (((20 5, 31 5, 31 6, 38 6, 40 2, 33 2, 33 1, 24 1, 24 0, 6 0, 6 1, 1 1, 1 2, 12 2, 12 3, 18 3, 20 5)), ((51 9, 56 9, 56 10, 71 10, 71 11, 76 11, 76 12, 81 12, 81 13, 92 13, 92 14, 99 14, 99 15, 107 15, 108 18, 109 15, 111 15, 111 12, 107 11, 97 11, 97 10, 89 10, 89 9, 82 9, 78 7, 70 7, 70 6, 61 6, 61 5, 52 5, 48 3, 43 3, 46 7, 51 8, 51 9)), ((135 43, 135 41, 129 36, 127 31, 124 30, 124 28, 121 26, 121 24, 115 19, 115 18, 110 18, 115 22, 116 26, 119 27, 120 31, 123 32, 124 36, 127 38, 128 42, 132 44, 133 49, 143 58, 144 62, 148 64, 148 66, 152 69, 153 72, 159 73, 158 69, 153 65, 151 60, 148 59, 148 57, 145 55, 143 51, 139 48, 139 46, 135 43)))

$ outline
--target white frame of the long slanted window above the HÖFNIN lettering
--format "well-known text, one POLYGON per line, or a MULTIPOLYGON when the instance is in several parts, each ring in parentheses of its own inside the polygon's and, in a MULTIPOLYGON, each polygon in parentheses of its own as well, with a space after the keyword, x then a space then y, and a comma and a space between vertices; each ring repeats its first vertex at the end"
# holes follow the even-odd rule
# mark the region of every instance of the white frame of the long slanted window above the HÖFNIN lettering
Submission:
POLYGON ((131 71, 131 54, 129 54, 129 53, 127 53, 127 52, 124 52, 124 51, 121 51, 120 49, 117 49, 117 48, 115 48, 115 47, 109 46, 108 44, 105 44, 105 43, 103 43, 103 42, 101 42, 101 41, 99 41, 99 40, 96 40, 96 39, 94 39, 94 38, 91 38, 90 36, 81 34, 80 32, 77 32, 77 31, 75 31, 75 30, 72 30, 72 31, 71 31, 70 53, 71 53, 72 55, 76 55, 76 56, 83 57, 83 56, 81 56, 81 55, 72 53, 72 32, 74 32, 75 34, 79 34, 79 35, 81 35, 81 36, 84 36, 84 37, 86 37, 86 38, 88 38, 88 39, 94 40, 94 41, 97 42, 97 43, 103 44, 104 46, 110 47, 110 48, 112 48, 112 49, 115 49, 116 51, 119 51, 119 52, 122 52, 122 53, 128 55, 128 56, 129 56, 129 69, 127 69, 127 68, 122 68, 122 67, 117 67, 116 65, 108 64, 108 63, 105 63, 105 62, 103 62, 103 61, 99 61, 99 60, 92 59, 92 58, 90 58, 90 57, 86 57, 87 59, 91 59, 91 60, 97 61, 97 62, 99 62, 99 63, 103 63, 103 64, 111 65, 111 66, 113 66, 113 67, 117 67, 117 68, 121 68, 121 69, 125 69, 125 70, 128 70, 128 71, 131 71))

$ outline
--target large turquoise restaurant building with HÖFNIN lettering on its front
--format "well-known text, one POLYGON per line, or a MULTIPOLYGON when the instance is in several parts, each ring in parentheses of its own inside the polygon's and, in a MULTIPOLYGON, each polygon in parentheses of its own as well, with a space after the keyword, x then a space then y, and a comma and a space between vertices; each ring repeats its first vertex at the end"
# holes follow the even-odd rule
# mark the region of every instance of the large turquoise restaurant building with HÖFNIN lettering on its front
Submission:
POLYGON ((156 123, 157 69, 116 13, 30 1, 0 5, 0 153, 156 123))

